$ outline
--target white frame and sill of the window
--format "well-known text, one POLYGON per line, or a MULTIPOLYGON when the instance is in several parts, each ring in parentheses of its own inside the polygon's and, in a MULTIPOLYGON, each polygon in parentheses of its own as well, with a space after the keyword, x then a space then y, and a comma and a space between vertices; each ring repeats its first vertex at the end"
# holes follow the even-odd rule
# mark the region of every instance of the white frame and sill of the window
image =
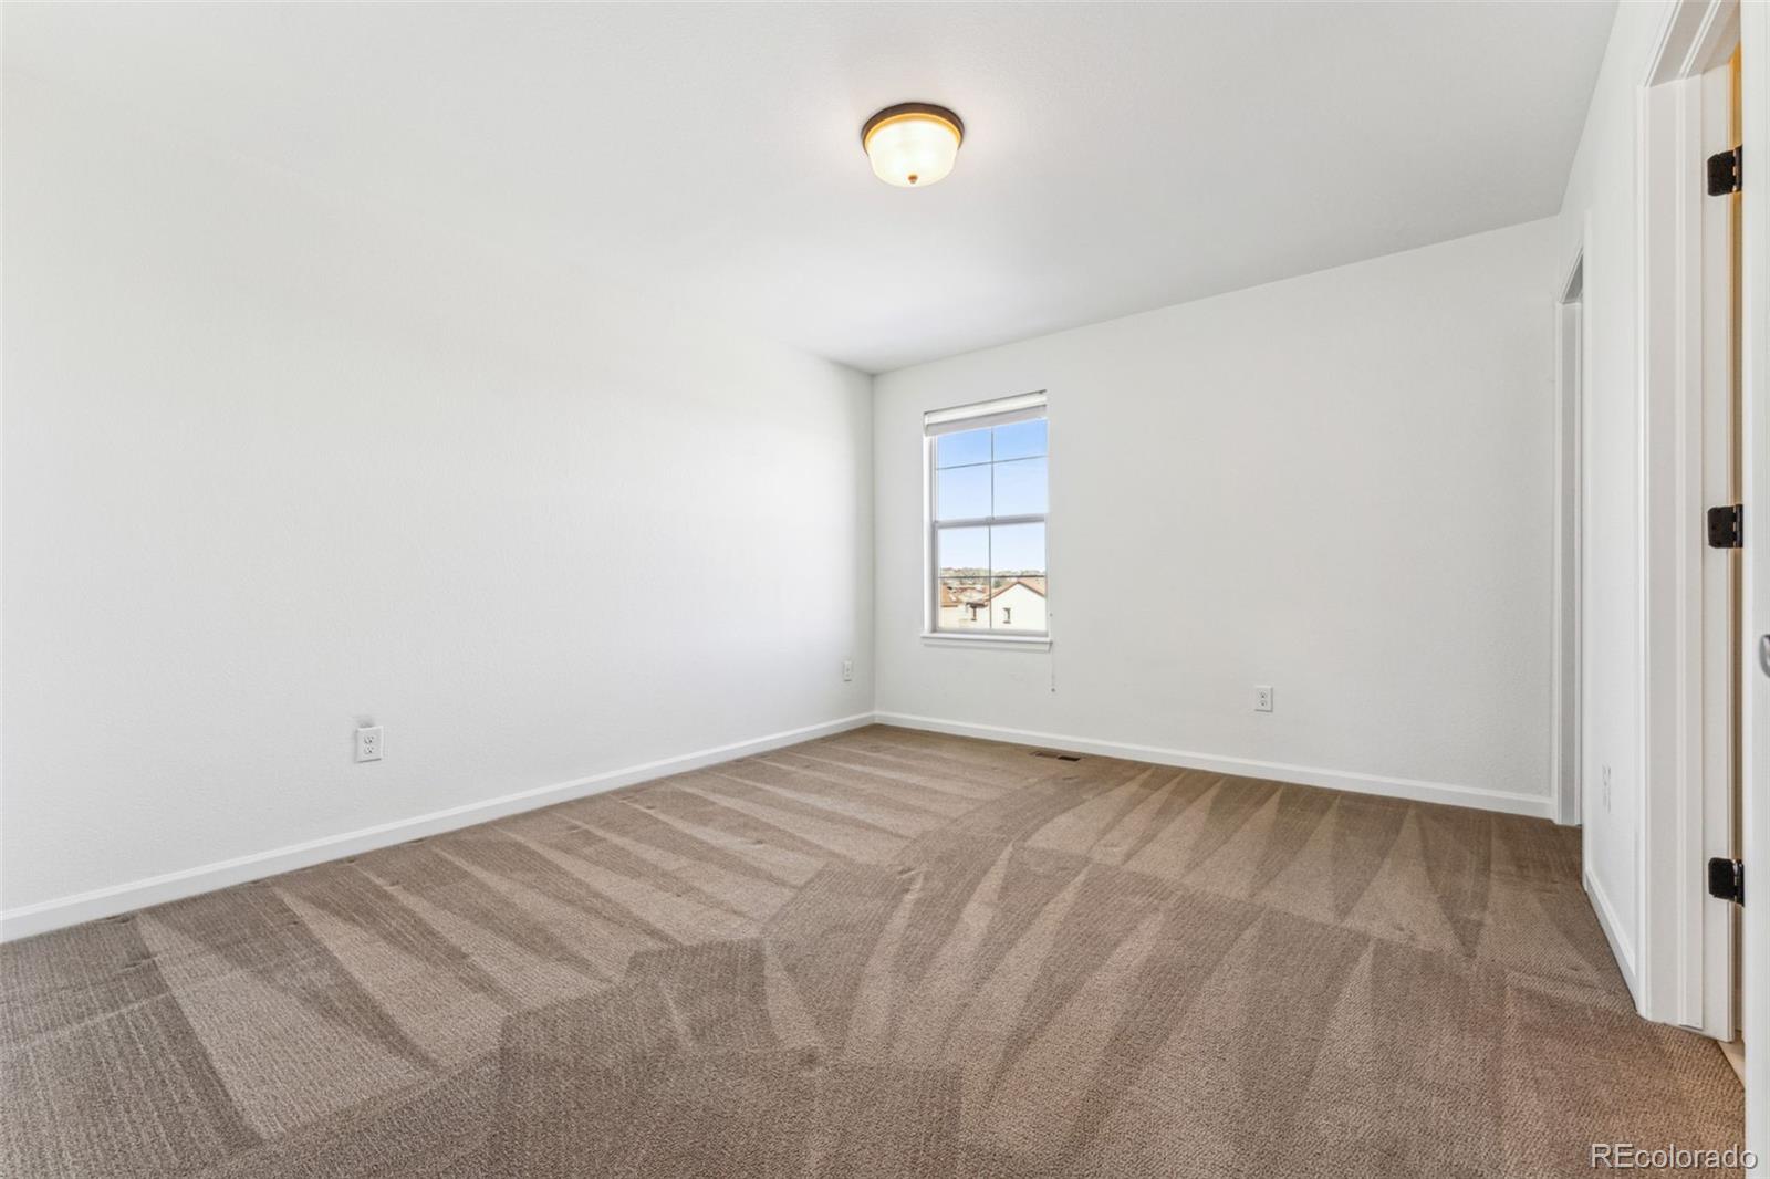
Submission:
MULTIPOLYGON (((935 646, 984 646, 1005 650, 1046 651, 1051 648, 1051 522, 1050 522, 1050 455, 1051 443, 1046 434, 1046 510, 1021 515, 986 515, 965 520, 935 520, 936 512, 936 469, 935 439, 942 434, 963 430, 984 430, 1016 421, 1046 420, 1044 389, 1020 393, 991 402, 972 405, 954 405, 922 414, 922 641, 935 646), (1012 634, 997 630, 942 630, 940 628, 940 533, 949 528, 1004 528, 1009 524, 1044 526, 1044 630, 1016 630, 1012 634)), ((993 572, 993 566, 991 566, 993 572)))

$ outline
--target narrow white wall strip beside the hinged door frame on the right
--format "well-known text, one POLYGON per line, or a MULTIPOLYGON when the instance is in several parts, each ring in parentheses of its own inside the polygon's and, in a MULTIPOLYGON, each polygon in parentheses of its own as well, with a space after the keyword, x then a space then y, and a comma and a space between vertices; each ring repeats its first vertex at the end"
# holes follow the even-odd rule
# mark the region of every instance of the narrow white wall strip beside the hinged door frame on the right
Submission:
POLYGON ((1635 113, 1664 4, 1620 4, 1556 223, 1556 269, 1584 273, 1584 871, 1634 982, 1643 805, 1641 384, 1635 113), (1589 234, 1589 237, 1588 237, 1589 234), (1609 800, 1604 767, 1611 770, 1609 800))

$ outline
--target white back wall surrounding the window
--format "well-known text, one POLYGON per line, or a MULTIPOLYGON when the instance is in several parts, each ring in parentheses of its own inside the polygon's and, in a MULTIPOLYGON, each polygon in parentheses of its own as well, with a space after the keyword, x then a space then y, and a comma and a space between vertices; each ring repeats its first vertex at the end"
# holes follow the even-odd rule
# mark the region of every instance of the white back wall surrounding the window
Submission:
POLYGON ((880 710, 1549 814, 1556 230, 878 377, 880 710), (922 411, 1028 389, 1051 651, 926 644, 922 411))

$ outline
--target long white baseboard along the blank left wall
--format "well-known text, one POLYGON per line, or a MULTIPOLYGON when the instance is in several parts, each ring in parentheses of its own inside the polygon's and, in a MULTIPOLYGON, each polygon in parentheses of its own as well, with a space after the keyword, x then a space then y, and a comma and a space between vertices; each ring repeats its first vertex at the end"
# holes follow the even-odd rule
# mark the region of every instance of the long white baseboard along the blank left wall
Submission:
POLYGON ((212 892, 216 889, 227 889, 228 885, 244 883, 248 880, 274 876, 276 873, 287 873, 297 867, 312 867, 313 864, 336 860, 345 855, 358 855, 361 852, 373 852, 375 848, 386 848, 409 839, 418 839, 421 836, 435 836, 460 827, 473 827, 474 823, 485 823, 487 820, 503 818, 506 814, 535 811, 556 802, 598 795, 605 790, 632 786, 634 782, 646 782, 655 777, 669 777, 671 774, 699 770, 701 767, 717 765, 720 761, 733 761, 736 758, 747 758, 770 749, 781 749, 782 745, 795 745, 818 736, 828 736, 830 733, 844 733, 864 724, 873 724, 871 712, 841 717, 837 720, 825 720, 823 724, 807 724, 805 728, 786 729, 784 733, 770 733, 768 736, 756 736, 745 742, 733 742, 731 745, 701 749, 676 758, 646 761, 644 765, 634 765, 621 770, 605 770, 602 774, 591 774, 589 777, 572 779, 570 782, 554 782, 552 786, 522 790, 513 795, 487 798, 483 802, 469 802, 466 805, 450 807, 446 811, 432 811, 430 814, 395 820, 391 823, 379 823, 375 827, 365 827, 342 836, 310 839, 306 843, 289 844, 287 848, 255 852, 251 855, 241 855, 216 864, 186 867, 182 871, 112 885, 108 889, 94 889, 92 892, 80 892, 76 896, 39 901, 35 905, 21 905, 18 908, 0 912, 0 942, 60 929, 62 926, 74 926, 97 917, 127 913, 129 910, 145 908, 149 905, 163 905, 186 896, 196 896, 198 892, 212 892))

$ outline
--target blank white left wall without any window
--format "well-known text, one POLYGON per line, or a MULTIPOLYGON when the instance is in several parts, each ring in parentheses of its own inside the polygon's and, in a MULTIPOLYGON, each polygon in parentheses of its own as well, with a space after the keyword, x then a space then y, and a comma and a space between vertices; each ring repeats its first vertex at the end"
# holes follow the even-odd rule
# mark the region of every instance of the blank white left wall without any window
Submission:
POLYGON ((7 76, 9 935, 873 708, 867 377, 336 196, 7 76))

